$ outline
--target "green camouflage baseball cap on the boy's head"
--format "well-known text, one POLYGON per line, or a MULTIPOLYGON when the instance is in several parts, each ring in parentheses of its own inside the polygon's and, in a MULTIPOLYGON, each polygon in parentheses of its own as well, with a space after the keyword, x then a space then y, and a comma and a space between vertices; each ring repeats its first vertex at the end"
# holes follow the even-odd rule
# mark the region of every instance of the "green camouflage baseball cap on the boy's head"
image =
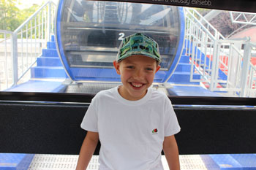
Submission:
POLYGON ((122 40, 116 61, 122 61, 132 55, 145 55, 155 59, 158 63, 161 62, 157 42, 142 33, 132 34, 122 40))

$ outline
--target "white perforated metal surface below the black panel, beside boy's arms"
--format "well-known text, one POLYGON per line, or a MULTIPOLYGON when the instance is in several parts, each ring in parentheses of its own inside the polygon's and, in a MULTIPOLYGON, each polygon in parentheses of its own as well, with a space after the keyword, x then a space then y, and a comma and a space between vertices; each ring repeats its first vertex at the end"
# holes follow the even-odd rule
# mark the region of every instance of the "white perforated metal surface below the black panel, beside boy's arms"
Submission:
MULTIPOLYGON (((91 158, 87 170, 99 169, 98 155, 91 158)), ((78 155, 34 155, 28 170, 75 170, 78 155)), ((207 170, 200 155, 180 155, 181 170, 207 170)), ((168 169, 165 156, 162 156, 164 169, 168 169)))

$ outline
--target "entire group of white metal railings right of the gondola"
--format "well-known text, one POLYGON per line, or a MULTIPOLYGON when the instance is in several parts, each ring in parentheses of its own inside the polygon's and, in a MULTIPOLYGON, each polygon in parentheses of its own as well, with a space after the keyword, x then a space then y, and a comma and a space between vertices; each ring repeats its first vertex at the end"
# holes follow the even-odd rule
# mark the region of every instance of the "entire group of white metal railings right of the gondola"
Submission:
POLYGON ((195 9, 185 8, 185 12, 190 81, 203 82, 223 96, 256 97, 256 66, 251 62, 256 45, 247 38, 227 40, 195 9), (200 74, 200 79, 194 74, 200 74))

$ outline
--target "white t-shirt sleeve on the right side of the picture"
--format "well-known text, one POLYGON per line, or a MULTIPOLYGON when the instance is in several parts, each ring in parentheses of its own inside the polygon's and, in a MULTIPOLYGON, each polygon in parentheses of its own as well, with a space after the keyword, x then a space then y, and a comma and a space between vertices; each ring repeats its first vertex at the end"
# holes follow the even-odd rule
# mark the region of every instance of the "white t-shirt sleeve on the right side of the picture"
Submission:
POLYGON ((173 110, 173 106, 168 104, 168 109, 165 112, 165 136, 172 136, 174 134, 178 134, 181 131, 181 127, 178 124, 178 119, 173 110))

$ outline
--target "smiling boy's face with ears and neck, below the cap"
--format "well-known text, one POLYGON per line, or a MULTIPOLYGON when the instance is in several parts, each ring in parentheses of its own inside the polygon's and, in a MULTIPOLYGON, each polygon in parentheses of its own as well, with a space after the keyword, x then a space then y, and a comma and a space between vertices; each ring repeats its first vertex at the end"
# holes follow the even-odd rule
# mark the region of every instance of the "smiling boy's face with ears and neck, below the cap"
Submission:
POLYGON ((146 95, 154 81, 154 74, 160 69, 157 61, 143 55, 132 55, 117 63, 113 62, 117 74, 121 75, 123 85, 120 95, 130 101, 139 100, 146 95))

